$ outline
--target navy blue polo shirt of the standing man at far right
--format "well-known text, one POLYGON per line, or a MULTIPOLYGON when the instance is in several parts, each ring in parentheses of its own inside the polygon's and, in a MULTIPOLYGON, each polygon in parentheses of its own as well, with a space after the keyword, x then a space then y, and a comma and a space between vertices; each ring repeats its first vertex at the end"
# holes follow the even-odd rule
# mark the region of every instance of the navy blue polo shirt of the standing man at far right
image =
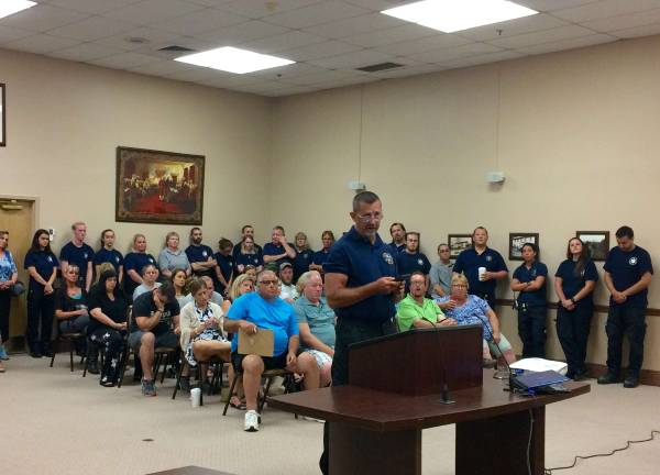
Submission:
MULTIPOLYGON (((607 261, 603 266, 605 272, 612 276, 612 283, 614 288, 618 291, 624 291, 627 288, 637 284, 641 276, 646 273, 653 274, 653 265, 651 264, 651 256, 646 250, 635 246, 630 252, 624 252, 619 246, 612 247, 607 255, 607 261)), ((626 299, 623 305, 629 307, 646 307, 648 289, 635 294, 626 299)), ((609 298, 610 306, 618 306, 614 299, 609 298)))

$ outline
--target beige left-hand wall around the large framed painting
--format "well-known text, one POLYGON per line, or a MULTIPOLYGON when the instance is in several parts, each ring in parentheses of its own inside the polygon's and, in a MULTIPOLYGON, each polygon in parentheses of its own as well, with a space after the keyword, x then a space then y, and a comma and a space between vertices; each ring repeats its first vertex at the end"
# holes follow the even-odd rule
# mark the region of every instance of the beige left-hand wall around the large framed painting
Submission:
POLYGON ((78 219, 95 248, 109 227, 122 252, 135 232, 155 255, 173 229, 187 243, 190 227, 114 222, 118 145, 206 155, 202 228, 213 248, 221 235, 235 240, 244 222, 267 222, 267 98, 2 49, 0 81, 8 111, 0 195, 40 199, 37 225, 56 229, 56 252, 78 219))

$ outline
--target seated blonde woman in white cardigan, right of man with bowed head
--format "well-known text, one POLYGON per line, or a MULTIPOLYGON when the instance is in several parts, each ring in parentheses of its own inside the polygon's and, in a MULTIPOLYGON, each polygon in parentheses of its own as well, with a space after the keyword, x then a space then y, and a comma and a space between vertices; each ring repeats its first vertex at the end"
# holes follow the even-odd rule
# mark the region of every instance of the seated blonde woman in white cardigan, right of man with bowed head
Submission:
MULTIPOLYGON (((182 308, 179 319, 179 342, 186 361, 190 366, 197 366, 198 361, 212 357, 229 363, 231 343, 224 336, 222 309, 209 300, 206 283, 200 278, 190 283, 190 295, 194 300, 182 308)), ((206 368, 202 367, 201 374, 207 374, 206 368)), ((230 378, 233 379, 233 375, 230 378)), ((189 387, 189 384, 182 384, 182 387, 185 386, 189 387)))

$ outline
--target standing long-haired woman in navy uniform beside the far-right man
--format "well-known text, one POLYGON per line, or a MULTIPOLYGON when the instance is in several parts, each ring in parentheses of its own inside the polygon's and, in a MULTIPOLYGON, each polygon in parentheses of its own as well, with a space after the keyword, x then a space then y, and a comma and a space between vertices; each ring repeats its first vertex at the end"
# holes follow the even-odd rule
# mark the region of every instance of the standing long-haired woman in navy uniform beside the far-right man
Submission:
POLYGON ((554 274, 557 306, 557 336, 566 356, 566 376, 580 380, 586 377, 586 342, 594 313, 594 288, 598 272, 580 240, 569 240, 566 259, 554 274))

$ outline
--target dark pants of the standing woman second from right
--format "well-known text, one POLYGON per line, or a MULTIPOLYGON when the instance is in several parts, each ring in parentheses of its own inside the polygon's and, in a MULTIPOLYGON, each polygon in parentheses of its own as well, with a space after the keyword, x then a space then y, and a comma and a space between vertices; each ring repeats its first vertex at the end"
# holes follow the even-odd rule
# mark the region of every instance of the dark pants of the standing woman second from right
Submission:
POLYGON ((566 356, 569 376, 586 373, 584 361, 593 313, 592 302, 579 302, 570 311, 560 303, 557 309, 557 335, 566 356))

